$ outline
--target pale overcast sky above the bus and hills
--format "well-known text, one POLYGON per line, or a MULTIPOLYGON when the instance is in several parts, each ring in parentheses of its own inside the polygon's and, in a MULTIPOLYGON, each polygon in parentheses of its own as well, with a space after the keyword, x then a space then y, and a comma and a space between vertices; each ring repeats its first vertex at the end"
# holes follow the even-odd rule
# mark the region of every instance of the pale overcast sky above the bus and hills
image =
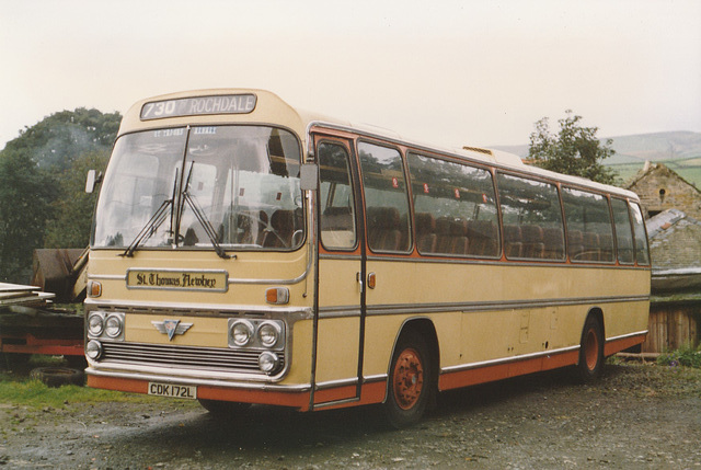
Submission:
POLYGON ((0 149, 62 110, 260 88, 441 147, 701 131, 698 0, 0 0, 0 149))

